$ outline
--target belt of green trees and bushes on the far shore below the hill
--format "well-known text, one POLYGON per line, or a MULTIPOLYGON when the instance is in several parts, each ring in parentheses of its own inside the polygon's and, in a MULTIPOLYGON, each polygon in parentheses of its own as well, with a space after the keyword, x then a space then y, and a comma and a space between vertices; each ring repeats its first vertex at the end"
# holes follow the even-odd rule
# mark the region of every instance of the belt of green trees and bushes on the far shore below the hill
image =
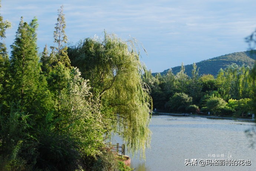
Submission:
POLYGON ((168 112, 252 117, 255 107, 252 68, 232 64, 220 69, 216 77, 199 75, 199 69, 194 63, 191 77, 185 73, 183 64, 176 75, 170 69, 165 75, 152 76, 151 71, 145 69, 143 80, 151 88, 154 108, 168 112))

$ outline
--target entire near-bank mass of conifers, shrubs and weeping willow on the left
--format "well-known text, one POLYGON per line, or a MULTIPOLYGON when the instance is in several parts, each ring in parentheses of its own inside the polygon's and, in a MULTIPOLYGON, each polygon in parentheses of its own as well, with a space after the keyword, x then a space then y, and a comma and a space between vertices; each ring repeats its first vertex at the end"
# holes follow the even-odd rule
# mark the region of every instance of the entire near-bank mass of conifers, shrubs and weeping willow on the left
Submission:
MULTIPOLYGON (((0 16, 1 40, 8 27, 0 16)), ((0 170, 127 170, 106 142, 116 133, 142 157, 150 144, 136 42, 105 32, 67 47, 61 7, 55 46, 38 55, 37 27, 21 17, 10 57, 0 43, 0 170)))

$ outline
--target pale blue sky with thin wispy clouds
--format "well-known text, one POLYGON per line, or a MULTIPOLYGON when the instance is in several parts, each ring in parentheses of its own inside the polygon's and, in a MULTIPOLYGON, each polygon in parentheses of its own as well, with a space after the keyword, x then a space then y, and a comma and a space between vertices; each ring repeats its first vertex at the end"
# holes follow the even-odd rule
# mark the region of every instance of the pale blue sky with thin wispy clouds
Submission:
POLYGON ((1 0, 0 13, 12 23, 7 47, 21 16, 26 22, 37 17, 39 52, 52 46, 61 5, 69 43, 103 37, 104 29, 124 40, 135 37, 148 52, 142 61, 152 72, 245 51, 244 37, 256 29, 255 0, 1 0))

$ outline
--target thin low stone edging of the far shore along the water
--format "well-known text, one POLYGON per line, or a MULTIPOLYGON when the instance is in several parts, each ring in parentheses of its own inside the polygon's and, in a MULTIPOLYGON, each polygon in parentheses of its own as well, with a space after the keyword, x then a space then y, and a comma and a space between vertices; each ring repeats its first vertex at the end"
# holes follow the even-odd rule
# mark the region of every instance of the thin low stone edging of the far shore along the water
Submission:
POLYGON ((250 121, 250 122, 256 121, 256 119, 248 119, 248 118, 232 118, 232 117, 221 117, 221 116, 213 116, 213 115, 198 115, 198 114, 174 114, 174 113, 166 113, 166 112, 153 112, 152 115, 194 116, 194 117, 201 117, 201 118, 230 119, 230 120, 240 120, 240 121, 250 121))

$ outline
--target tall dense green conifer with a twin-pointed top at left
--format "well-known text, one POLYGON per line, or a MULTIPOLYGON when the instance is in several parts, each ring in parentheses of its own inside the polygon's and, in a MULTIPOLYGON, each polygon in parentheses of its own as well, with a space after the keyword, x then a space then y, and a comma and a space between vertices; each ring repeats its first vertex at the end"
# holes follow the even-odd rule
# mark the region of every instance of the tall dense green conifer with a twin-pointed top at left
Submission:
POLYGON ((42 102, 48 91, 45 78, 40 75, 36 44, 37 26, 36 18, 26 23, 22 17, 16 38, 11 45, 12 99, 14 102, 19 101, 22 111, 29 114, 45 113, 44 103, 47 103, 42 102))

